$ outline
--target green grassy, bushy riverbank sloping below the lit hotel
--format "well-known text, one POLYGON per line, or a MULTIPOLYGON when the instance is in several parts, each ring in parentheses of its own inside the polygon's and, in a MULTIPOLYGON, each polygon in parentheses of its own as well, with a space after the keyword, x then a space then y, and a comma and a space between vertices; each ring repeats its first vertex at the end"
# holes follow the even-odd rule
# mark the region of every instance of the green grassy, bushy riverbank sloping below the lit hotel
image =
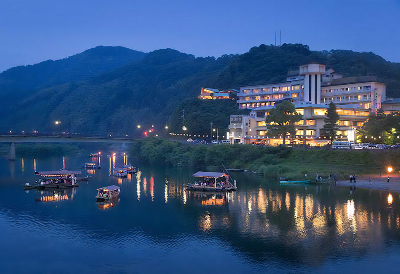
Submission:
POLYGON ((136 142, 130 155, 157 163, 177 166, 198 166, 219 169, 244 168, 270 177, 303 177, 328 173, 345 179, 349 174, 382 172, 388 165, 398 173, 400 151, 396 150, 328 150, 260 147, 253 145, 190 145, 160 138, 146 138, 136 142))

